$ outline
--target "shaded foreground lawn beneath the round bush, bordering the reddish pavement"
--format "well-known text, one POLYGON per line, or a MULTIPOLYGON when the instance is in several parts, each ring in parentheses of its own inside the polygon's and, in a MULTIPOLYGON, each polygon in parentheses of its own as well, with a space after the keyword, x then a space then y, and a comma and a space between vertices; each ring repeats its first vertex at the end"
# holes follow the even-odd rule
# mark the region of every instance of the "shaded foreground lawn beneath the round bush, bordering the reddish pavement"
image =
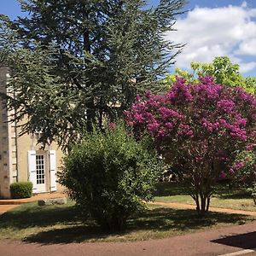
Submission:
POLYGON ((27 203, 0 216, 0 239, 43 244, 84 241, 141 241, 216 229, 254 220, 237 214, 209 212, 199 218, 195 211, 150 207, 130 218, 124 232, 109 233, 85 219, 68 201, 64 206, 38 207, 27 203))

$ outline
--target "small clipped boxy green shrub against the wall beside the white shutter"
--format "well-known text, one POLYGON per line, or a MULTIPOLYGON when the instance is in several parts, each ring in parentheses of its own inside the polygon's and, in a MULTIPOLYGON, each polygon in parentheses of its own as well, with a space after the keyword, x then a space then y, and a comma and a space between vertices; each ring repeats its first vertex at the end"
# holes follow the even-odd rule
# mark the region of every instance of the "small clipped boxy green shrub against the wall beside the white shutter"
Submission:
POLYGON ((11 197, 14 199, 32 197, 32 182, 10 184, 11 197))

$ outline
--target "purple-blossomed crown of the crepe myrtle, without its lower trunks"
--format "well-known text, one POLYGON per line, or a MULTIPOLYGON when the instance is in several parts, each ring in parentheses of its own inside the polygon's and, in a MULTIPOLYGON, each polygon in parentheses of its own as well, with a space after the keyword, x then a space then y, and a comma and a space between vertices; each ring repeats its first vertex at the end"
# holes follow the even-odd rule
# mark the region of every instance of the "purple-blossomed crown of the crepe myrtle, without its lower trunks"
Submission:
POLYGON ((197 163, 226 161, 231 149, 255 140, 256 100, 243 89, 215 84, 209 77, 198 84, 177 79, 165 95, 148 90, 137 96, 125 119, 137 136, 148 132, 156 148, 172 155, 178 148, 197 163))

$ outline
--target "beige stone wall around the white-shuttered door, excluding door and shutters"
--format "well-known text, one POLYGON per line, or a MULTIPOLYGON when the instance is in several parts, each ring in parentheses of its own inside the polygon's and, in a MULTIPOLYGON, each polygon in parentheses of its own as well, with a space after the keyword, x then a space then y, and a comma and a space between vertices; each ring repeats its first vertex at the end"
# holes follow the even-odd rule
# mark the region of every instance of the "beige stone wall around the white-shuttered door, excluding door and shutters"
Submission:
MULTIPOLYGON (((8 83, 8 79, 8 69, 0 68, 0 91, 4 93, 6 92, 5 85, 8 83)), ((25 134, 19 137, 20 128, 17 128, 14 122, 8 122, 9 114, 5 102, 0 100, 0 197, 2 198, 8 198, 10 196, 10 183, 28 180, 27 152, 29 150, 36 150, 37 153, 44 153, 46 155, 49 153, 49 150, 55 150, 58 170, 61 170, 61 159, 63 157, 63 153, 57 147, 56 143, 52 143, 42 151, 41 145, 37 143, 35 136, 25 134)), ((49 166, 47 158, 45 164, 49 166)), ((46 168, 46 181, 46 189, 49 191, 49 168, 46 168)), ((57 184, 57 190, 63 190, 61 185, 57 184)))

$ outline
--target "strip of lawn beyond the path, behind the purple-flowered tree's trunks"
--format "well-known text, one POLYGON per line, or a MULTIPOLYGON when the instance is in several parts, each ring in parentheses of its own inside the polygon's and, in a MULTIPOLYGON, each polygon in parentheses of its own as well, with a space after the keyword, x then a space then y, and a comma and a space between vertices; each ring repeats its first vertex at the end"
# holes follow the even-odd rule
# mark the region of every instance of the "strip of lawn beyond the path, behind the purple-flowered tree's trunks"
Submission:
MULTIPOLYGON (((195 201, 176 183, 160 183, 155 201, 178 202, 195 205, 195 201)), ((229 189, 225 184, 218 185, 211 199, 211 207, 234 210, 256 211, 253 198, 245 189, 229 189)))

